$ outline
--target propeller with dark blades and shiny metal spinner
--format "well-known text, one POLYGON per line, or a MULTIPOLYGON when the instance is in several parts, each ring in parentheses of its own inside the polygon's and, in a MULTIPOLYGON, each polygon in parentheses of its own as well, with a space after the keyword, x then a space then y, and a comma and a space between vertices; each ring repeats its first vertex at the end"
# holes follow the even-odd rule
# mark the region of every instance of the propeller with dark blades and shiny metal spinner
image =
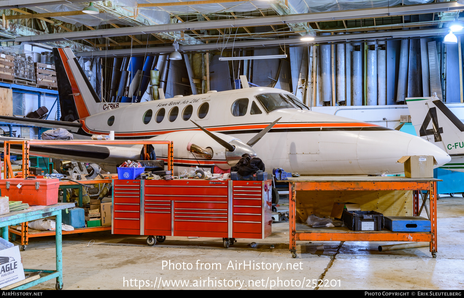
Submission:
POLYGON ((229 165, 236 165, 238 161, 242 158, 243 154, 250 154, 250 156, 253 158, 256 156, 256 152, 251 148, 253 145, 255 145, 260 139, 263 138, 264 134, 268 133, 269 130, 277 123, 278 120, 281 118, 278 118, 271 124, 269 124, 267 127, 265 127, 262 131, 260 131, 258 134, 256 134, 254 137, 252 137, 246 144, 242 142, 239 139, 233 139, 230 142, 227 142, 223 139, 221 139, 219 136, 216 134, 210 132, 204 127, 201 127, 194 121, 190 120, 195 124, 197 127, 199 127, 203 132, 205 132, 208 136, 210 136, 212 139, 214 139, 216 142, 219 143, 219 145, 223 146, 226 148, 226 160, 227 164, 229 165))

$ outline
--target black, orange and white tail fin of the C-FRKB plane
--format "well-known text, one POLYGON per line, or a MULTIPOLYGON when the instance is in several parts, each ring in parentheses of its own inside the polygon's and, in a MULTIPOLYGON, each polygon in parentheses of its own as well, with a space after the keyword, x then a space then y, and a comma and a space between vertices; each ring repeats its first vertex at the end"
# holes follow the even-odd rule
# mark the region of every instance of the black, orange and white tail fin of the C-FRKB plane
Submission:
POLYGON ((99 112, 101 100, 71 48, 53 48, 61 120, 74 121, 99 112))

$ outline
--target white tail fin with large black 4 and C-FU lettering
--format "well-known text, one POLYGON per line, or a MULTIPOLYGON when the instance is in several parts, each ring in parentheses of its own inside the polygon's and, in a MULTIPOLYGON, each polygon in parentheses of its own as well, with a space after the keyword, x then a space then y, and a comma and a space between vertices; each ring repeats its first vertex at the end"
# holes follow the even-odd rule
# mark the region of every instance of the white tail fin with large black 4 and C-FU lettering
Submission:
POLYGON ((408 97, 411 122, 422 139, 440 147, 451 156, 441 169, 464 172, 464 124, 437 96, 408 97))

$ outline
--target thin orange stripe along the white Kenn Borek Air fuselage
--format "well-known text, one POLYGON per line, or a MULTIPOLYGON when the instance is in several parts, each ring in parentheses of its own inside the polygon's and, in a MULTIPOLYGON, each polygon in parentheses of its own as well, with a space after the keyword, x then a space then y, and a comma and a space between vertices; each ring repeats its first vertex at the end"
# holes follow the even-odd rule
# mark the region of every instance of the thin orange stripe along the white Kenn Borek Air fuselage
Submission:
MULTIPOLYGON (((82 123, 82 129, 86 133, 102 133, 97 131, 90 130, 85 125, 85 120, 80 120, 82 123)), ((209 131, 230 131, 230 130, 249 130, 249 129, 263 129, 266 127, 266 124, 257 124, 257 125, 238 125, 238 126, 226 126, 226 127, 208 127, 209 131)), ((274 125, 273 128, 295 128, 295 127, 379 127, 380 125, 367 123, 367 122, 343 122, 343 123, 281 123, 274 125)), ((167 131, 150 131, 150 132, 141 132, 141 133, 116 133, 115 136, 118 137, 135 137, 135 136, 147 136, 147 135, 160 135, 165 133, 174 133, 177 131, 184 130, 200 130, 199 128, 191 129, 177 129, 177 130, 167 130, 167 131)), ((240 132, 238 132, 240 133, 240 132)))

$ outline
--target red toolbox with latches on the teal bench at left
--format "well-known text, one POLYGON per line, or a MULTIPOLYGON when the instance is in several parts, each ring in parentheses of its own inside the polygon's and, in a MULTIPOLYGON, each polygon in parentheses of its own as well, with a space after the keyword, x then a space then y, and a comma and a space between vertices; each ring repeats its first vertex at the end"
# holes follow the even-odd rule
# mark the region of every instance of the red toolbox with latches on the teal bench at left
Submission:
POLYGON ((58 203, 58 179, 11 178, 0 180, 1 195, 10 201, 49 206, 58 203))

